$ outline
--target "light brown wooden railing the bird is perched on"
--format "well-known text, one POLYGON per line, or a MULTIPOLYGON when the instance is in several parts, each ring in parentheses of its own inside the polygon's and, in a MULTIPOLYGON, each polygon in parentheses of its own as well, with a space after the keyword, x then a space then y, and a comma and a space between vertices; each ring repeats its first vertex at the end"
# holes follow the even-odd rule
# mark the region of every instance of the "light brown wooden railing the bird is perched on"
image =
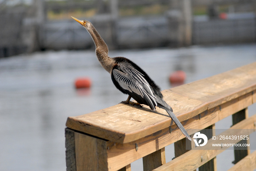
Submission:
MULTIPOLYGON (((229 115, 233 115, 233 126, 222 134, 255 131, 256 115, 248 117, 247 108, 256 102, 255 92, 256 62, 162 91, 165 101, 172 106, 191 137, 198 130, 211 128, 208 138, 215 135, 215 123, 229 115)), ((68 171, 129 171, 131 163, 142 157, 144 171, 217 170, 216 156, 226 149, 209 150, 207 145, 210 143, 207 143, 196 147, 202 150, 186 150, 184 135, 166 111, 159 108, 152 111, 145 105, 141 108, 117 104, 69 117, 66 126, 68 171), (165 147, 172 143, 175 159, 166 163, 165 147)), ((249 143, 249 140, 245 141, 249 143)), ((190 145, 191 148, 195 146, 190 145)), ((250 154, 249 147, 234 150, 234 155, 236 164, 230 170, 256 169, 256 152, 250 154)))

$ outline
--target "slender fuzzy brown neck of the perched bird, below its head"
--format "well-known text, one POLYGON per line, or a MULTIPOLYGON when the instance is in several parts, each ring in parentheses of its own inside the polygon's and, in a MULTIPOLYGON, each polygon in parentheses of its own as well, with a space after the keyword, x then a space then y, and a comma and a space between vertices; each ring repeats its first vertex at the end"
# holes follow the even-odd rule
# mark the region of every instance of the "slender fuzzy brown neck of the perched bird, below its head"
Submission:
POLYGON ((114 65, 114 60, 113 58, 110 58, 108 56, 108 46, 104 42, 104 40, 101 38, 99 35, 98 31, 95 29, 95 27, 91 24, 90 29, 87 29, 87 31, 90 33, 91 37, 93 38, 94 44, 96 46, 96 55, 101 63, 101 66, 111 73, 113 65, 114 65))

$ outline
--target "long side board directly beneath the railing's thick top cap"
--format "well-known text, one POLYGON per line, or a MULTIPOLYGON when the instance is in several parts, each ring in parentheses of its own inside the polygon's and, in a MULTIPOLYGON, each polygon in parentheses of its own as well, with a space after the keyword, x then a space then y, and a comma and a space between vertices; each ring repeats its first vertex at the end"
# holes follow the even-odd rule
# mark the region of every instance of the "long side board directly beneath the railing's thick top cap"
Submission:
MULTIPOLYGON (((185 129, 191 135, 199 130, 207 128, 208 126, 220 121, 221 119, 232 115, 242 109, 244 106, 249 106, 252 104, 252 95, 246 94, 241 98, 231 100, 222 105, 222 107, 214 107, 206 112, 201 113, 201 117, 198 115, 189 119, 184 123, 185 129)), ((108 150, 108 160, 110 166, 113 166, 120 161, 124 161, 121 167, 116 168, 116 170, 132 163, 135 160, 140 159, 150 153, 158 151, 161 148, 166 147, 178 140, 184 138, 184 135, 177 129, 176 125, 171 126, 172 133, 169 133, 169 128, 160 130, 149 136, 143 137, 139 140, 121 144, 121 143, 110 143, 108 150), (135 150, 135 143, 138 144, 138 151, 135 150)))

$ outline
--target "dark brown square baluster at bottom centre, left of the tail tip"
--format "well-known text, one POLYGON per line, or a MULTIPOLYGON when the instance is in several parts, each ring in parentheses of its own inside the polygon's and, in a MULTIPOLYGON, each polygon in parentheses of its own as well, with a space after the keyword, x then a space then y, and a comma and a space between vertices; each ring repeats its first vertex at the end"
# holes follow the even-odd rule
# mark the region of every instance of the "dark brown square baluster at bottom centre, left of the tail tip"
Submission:
POLYGON ((165 148, 161 148, 145 157, 143 157, 143 171, 152 171, 166 163, 165 148))

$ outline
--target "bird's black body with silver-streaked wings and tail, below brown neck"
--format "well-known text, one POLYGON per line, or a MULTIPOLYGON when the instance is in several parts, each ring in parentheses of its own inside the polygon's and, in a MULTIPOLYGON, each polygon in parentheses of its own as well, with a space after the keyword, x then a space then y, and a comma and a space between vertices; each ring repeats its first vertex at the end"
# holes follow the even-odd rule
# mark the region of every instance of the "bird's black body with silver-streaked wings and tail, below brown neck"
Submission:
POLYGON ((185 137, 191 140, 191 137, 185 128, 173 114, 172 107, 163 100, 159 88, 147 76, 147 74, 131 61, 126 59, 125 62, 125 58, 117 57, 117 59, 120 61, 113 67, 111 74, 114 85, 121 92, 129 94, 140 104, 148 105, 152 110, 155 110, 155 106, 165 109, 185 137))

